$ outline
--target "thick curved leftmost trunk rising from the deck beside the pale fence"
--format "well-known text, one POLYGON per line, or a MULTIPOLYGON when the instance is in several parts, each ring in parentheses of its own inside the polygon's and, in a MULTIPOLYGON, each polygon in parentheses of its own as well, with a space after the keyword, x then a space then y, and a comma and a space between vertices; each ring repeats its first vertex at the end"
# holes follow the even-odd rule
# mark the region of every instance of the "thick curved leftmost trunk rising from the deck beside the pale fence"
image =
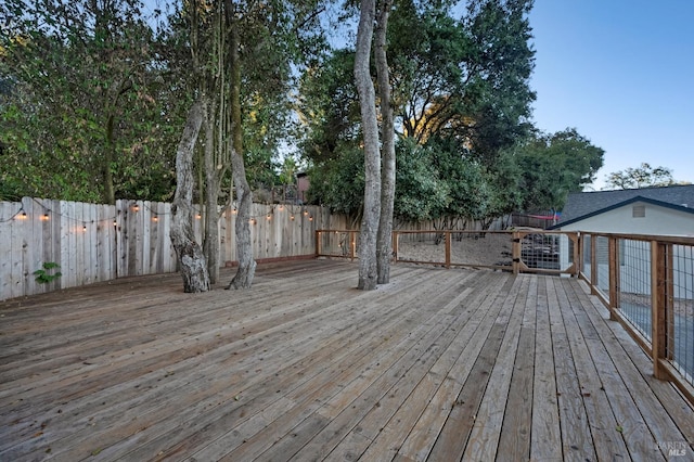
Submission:
POLYGON ((193 149, 203 123, 203 104, 191 107, 176 152, 176 194, 171 204, 171 243, 178 255, 184 292, 209 291, 207 264, 193 233, 193 149))

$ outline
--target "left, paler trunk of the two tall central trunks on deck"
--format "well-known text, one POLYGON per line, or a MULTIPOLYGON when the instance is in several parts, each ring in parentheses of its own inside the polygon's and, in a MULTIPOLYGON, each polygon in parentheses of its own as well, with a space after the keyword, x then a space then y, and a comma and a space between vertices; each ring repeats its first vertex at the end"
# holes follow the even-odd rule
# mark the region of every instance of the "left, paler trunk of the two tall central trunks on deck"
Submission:
POLYGON ((378 121, 376 97, 369 70, 375 0, 361 0, 357 53, 355 55, 355 81, 361 108, 361 130, 364 137, 364 213, 359 234, 358 288, 376 288, 376 234, 381 216, 381 157, 378 153, 378 121))

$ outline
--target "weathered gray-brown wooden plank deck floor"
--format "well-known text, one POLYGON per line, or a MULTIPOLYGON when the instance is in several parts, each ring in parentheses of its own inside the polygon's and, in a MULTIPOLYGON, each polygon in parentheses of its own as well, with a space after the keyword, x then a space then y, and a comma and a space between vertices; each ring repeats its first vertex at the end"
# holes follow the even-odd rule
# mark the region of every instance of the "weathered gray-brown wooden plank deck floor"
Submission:
POLYGON ((694 460, 692 407, 581 282, 356 282, 306 260, 246 292, 169 274, 0 304, 0 461, 694 460))

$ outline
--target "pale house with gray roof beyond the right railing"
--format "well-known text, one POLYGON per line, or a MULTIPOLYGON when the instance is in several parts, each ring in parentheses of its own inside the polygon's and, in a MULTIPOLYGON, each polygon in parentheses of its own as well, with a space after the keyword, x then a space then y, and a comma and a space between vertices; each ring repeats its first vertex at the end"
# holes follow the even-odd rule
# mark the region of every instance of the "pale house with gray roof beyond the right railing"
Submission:
MULTIPOLYGON (((596 191, 569 194, 561 220, 549 230, 581 231, 594 233, 647 234, 647 235, 683 235, 694 236, 694 185, 673 185, 661 188, 643 188, 620 191, 596 191)), ((632 286, 629 281, 648 280, 651 278, 650 253, 619 241, 619 260, 622 271, 633 268, 630 261, 641 261, 639 277, 621 274, 621 291, 648 295, 648 291, 632 286)), ((568 243, 561 248, 562 267, 568 265, 568 243)), ((597 272, 607 271, 607 239, 596 241, 597 272)), ((587 264, 583 262, 583 266, 587 264)), ((692 274, 694 264, 691 248, 674 246, 673 265, 677 274, 692 274), (680 255, 682 253, 690 255, 680 255)), ((687 278, 677 281, 674 296, 691 298, 693 281, 687 278), (689 294, 689 295, 687 295, 689 294)))

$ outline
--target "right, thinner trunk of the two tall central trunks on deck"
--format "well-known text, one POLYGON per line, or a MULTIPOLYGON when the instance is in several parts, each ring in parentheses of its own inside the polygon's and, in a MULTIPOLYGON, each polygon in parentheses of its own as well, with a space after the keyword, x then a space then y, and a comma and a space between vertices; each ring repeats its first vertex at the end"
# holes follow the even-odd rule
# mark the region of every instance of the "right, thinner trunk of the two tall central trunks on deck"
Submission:
POLYGON ((390 75, 386 54, 386 30, 391 0, 382 0, 378 14, 375 59, 381 97, 381 217, 378 219, 378 236, 376 240, 376 265, 378 284, 390 281, 390 254, 393 253, 393 208, 395 202, 395 128, 393 124, 393 105, 390 102, 390 75))

